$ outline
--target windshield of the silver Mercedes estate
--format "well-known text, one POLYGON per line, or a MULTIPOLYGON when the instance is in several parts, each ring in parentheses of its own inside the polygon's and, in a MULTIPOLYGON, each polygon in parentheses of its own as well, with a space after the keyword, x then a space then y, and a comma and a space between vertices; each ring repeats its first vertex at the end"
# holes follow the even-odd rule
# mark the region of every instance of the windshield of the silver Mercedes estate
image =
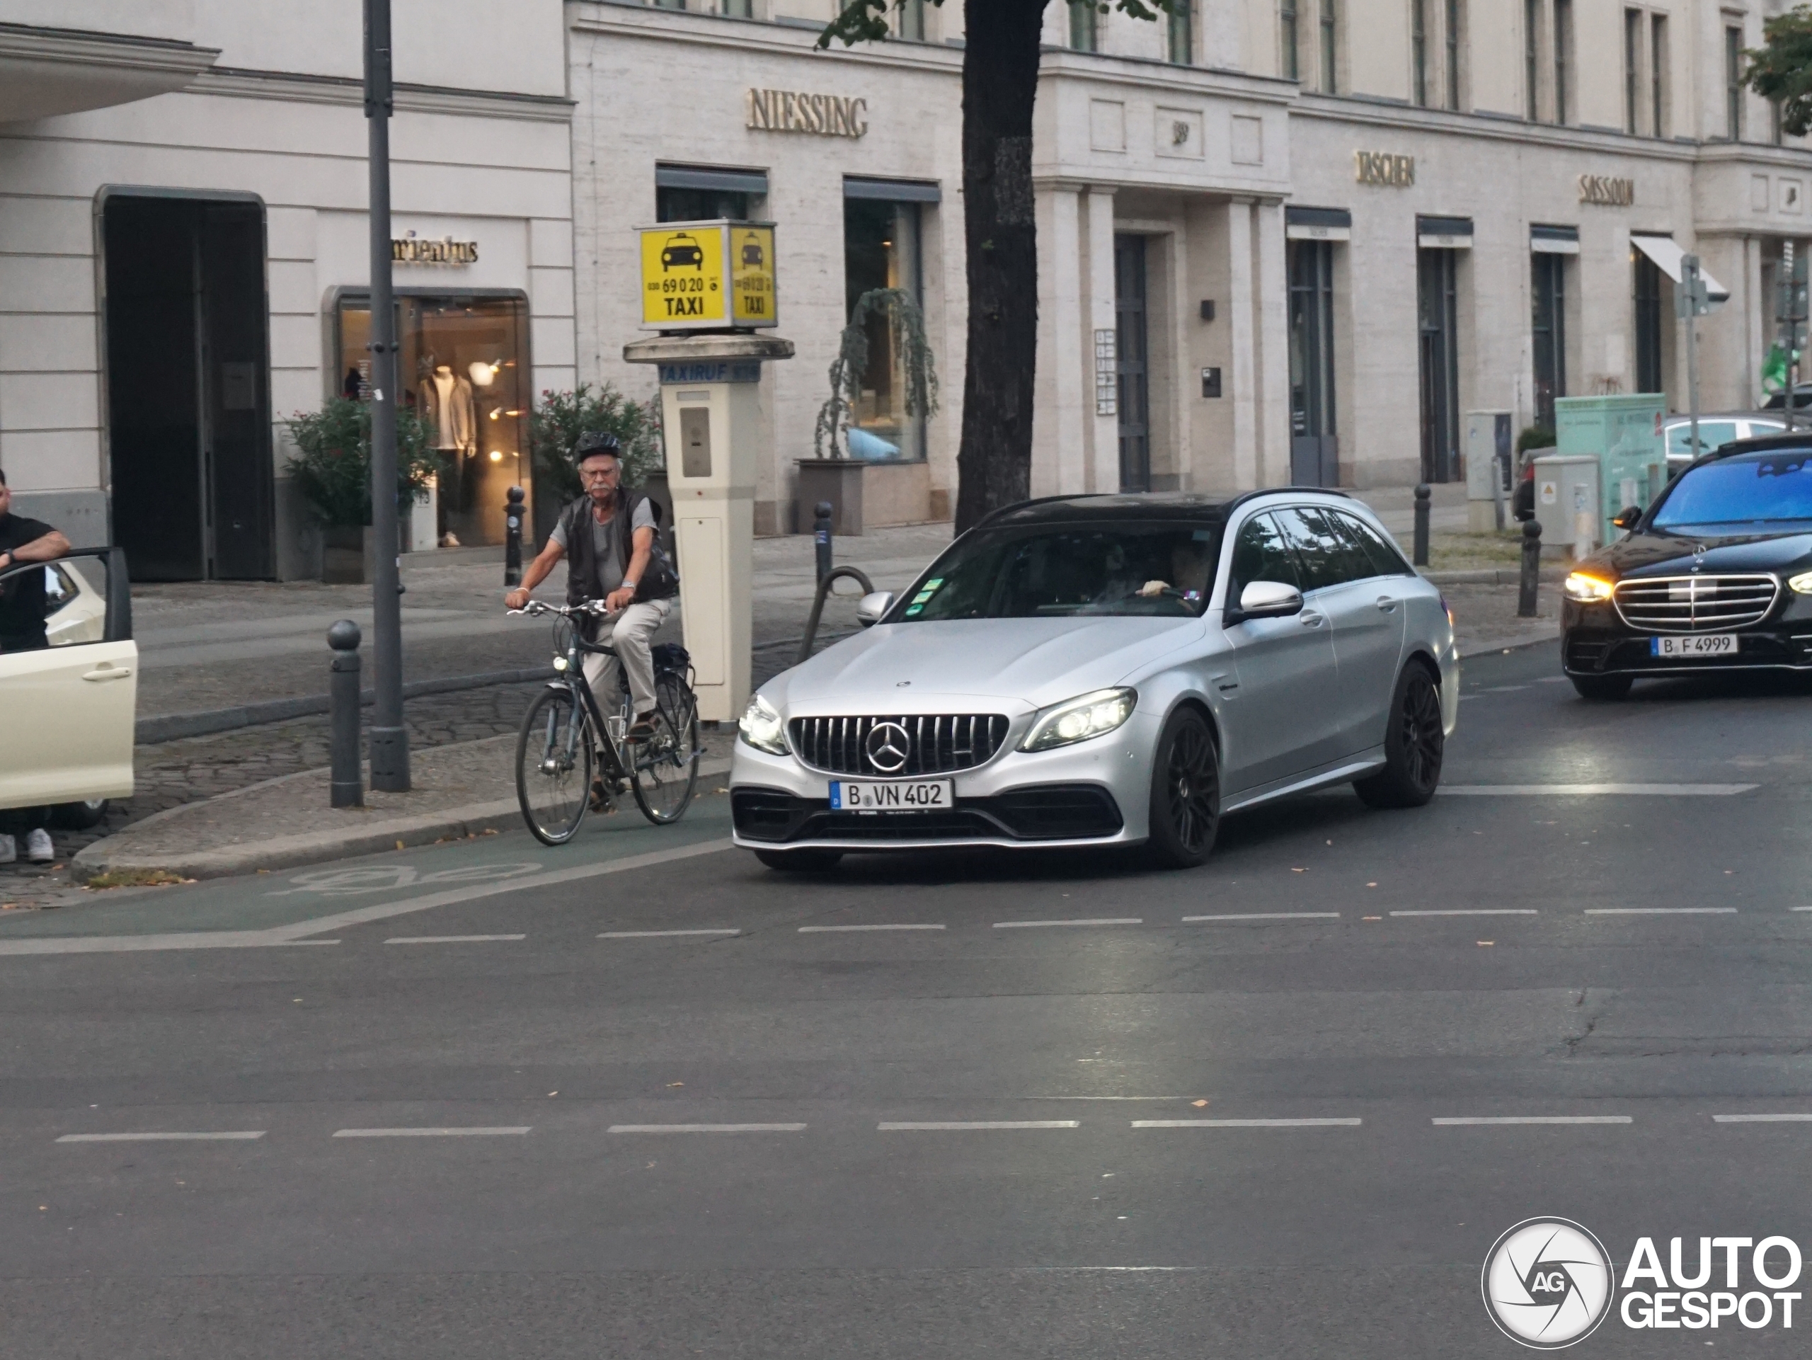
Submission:
POLYGON ((1218 524, 1047 524, 969 535, 933 564, 895 618, 1194 617, 1214 586, 1219 537, 1218 524))

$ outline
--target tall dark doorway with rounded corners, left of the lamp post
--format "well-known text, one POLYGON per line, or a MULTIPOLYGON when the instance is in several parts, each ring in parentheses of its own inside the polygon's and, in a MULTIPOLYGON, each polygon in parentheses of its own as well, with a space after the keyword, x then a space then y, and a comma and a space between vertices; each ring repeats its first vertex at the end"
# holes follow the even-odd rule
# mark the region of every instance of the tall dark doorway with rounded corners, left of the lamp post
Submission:
POLYGON ((134 580, 261 580, 272 540, 265 209, 109 194, 112 540, 134 580))

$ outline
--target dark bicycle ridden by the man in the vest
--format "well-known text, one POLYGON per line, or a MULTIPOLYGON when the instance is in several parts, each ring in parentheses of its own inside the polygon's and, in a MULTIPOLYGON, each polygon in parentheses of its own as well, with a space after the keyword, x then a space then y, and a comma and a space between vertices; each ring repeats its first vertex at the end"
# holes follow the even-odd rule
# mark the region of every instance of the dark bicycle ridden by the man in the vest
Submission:
POLYGON ((605 801, 612 803, 627 782, 641 814, 656 825, 685 816, 703 756, 698 743, 698 696, 687 676, 692 662, 685 649, 672 644, 654 647, 654 734, 643 742, 629 742, 636 713, 622 667, 618 702, 605 714, 580 664, 583 653, 616 655, 609 646, 585 642, 582 636, 580 620, 609 613, 603 602, 556 606, 529 600, 525 607, 509 613, 558 617, 558 676, 529 704, 516 738, 516 801, 535 838, 542 845, 565 845, 573 840, 591 809, 594 782, 603 789, 605 801))

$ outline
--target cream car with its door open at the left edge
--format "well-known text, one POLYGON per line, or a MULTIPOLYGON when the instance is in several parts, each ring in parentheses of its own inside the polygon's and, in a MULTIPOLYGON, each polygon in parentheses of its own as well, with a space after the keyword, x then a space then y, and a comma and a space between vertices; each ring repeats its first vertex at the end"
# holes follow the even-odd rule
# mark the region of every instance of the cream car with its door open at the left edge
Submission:
POLYGON ((109 800, 132 796, 138 646, 125 551, 20 562, 0 571, 0 591, 18 595, 27 573, 43 578, 49 646, 0 651, 0 807, 49 805, 60 825, 91 827, 109 800))

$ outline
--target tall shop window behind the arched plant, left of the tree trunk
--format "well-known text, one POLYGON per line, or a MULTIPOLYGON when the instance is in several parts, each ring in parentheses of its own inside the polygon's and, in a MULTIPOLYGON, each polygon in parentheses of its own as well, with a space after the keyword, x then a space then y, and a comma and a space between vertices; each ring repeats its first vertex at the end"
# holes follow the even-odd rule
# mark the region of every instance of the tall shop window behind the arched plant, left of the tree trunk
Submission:
MULTIPOLYGON (((1075 13, 1075 11, 1071 11, 1075 13)), ((901 288, 924 306, 919 256, 919 203, 872 198, 843 199, 844 316, 863 294, 901 288)), ((870 312, 868 368, 850 412, 850 455, 857 459, 922 459, 924 421, 906 412, 906 370, 893 348, 888 314, 870 312)))

